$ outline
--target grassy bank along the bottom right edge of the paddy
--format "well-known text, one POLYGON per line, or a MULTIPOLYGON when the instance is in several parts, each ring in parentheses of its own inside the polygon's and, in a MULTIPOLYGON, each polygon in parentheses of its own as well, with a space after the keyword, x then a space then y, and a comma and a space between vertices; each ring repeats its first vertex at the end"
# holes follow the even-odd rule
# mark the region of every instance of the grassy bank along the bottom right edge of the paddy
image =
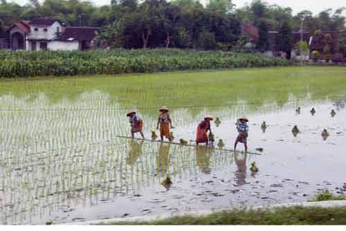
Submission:
POLYGON ((209 216, 173 216, 152 222, 107 225, 346 225, 346 207, 285 207, 276 210, 235 210, 209 216))

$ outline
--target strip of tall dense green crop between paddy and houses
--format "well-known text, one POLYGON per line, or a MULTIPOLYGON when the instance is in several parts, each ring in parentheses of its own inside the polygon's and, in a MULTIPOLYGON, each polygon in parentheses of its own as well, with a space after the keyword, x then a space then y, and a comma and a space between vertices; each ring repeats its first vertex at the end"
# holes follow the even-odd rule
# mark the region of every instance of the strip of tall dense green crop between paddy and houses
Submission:
POLYGON ((0 51, 0 77, 147 73, 215 68, 286 66, 264 55, 177 49, 90 52, 0 51))

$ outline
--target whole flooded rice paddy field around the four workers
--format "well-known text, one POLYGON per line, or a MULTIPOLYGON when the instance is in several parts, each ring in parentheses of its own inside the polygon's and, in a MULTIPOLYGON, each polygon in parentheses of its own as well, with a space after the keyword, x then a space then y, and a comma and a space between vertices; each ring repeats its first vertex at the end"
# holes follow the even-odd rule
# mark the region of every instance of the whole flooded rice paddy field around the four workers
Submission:
POLYGON ((325 189, 345 194, 345 104, 346 68, 2 80, 0 223, 289 203, 325 189), (249 149, 264 151, 118 137, 129 136, 125 114, 136 109, 150 138, 162 105, 171 109, 176 141, 194 140, 208 113, 221 120, 212 122, 216 142, 233 149, 236 118, 245 114, 249 149), (249 170, 253 161, 257 174, 249 170), (166 176, 170 188, 161 185, 166 176))

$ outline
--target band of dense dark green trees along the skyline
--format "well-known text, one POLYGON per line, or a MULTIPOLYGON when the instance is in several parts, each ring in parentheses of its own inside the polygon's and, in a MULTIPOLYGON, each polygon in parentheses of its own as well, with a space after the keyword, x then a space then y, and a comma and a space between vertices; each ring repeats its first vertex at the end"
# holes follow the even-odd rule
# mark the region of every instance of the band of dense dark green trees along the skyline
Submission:
MULTIPOLYGON (((289 7, 262 0, 253 0, 242 8, 236 8, 232 0, 210 0, 204 5, 198 0, 111 0, 105 6, 84 0, 29 2, 20 6, 1 0, 0 24, 3 21, 10 26, 22 19, 52 17, 67 26, 99 26, 102 46, 111 48, 244 50, 247 40, 241 35, 241 23, 250 23, 260 28, 254 50, 266 50, 267 31, 281 30, 281 51, 289 53, 292 44, 286 35, 299 31, 300 26, 309 33, 345 29, 345 8, 327 9, 317 15, 303 10, 293 15, 289 7)), ((346 39, 340 44, 343 46, 338 53, 345 53, 346 39)), ((337 53, 333 48, 331 51, 337 53)))

